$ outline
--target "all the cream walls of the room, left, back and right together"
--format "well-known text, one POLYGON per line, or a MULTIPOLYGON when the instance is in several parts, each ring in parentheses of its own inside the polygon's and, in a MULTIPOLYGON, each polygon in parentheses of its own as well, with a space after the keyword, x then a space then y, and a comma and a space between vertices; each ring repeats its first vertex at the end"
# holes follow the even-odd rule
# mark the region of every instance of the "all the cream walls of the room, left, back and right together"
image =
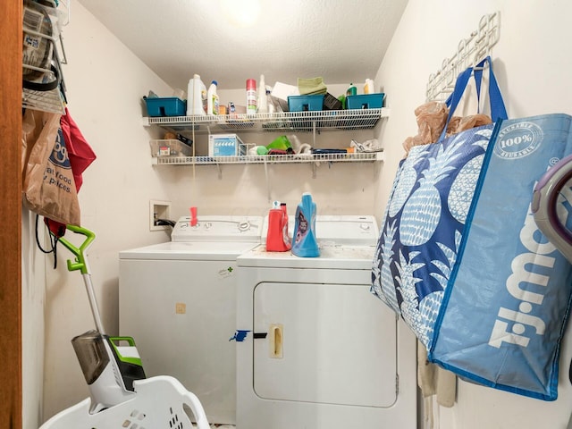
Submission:
MULTIPOLYGON (((172 201, 173 218, 187 214, 189 206, 198 206, 199 214, 265 214, 269 199, 286 201, 292 210, 300 194, 309 190, 322 214, 374 213, 381 218, 403 155, 401 143, 416 134, 413 111, 425 101, 429 74, 438 70, 461 38, 467 38, 484 13, 496 10, 501 11, 501 40, 492 55, 509 115, 570 113, 572 87, 568 85, 568 70, 572 56, 566 55, 560 46, 570 38, 571 4, 565 0, 536 0, 526 5, 517 0, 409 0, 375 79, 376 87, 382 87, 387 94, 391 117, 373 132, 360 136, 382 136, 385 164, 381 168, 379 164, 324 164, 317 169, 315 178, 309 165, 274 165, 266 181, 262 165, 223 166, 220 179, 215 167, 151 166, 148 139, 157 130, 141 126, 141 96, 148 89, 168 96, 171 89, 74 2, 71 24, 64 29, 69 64, 63 72, 71 116, 98 156, 84 174, 80 204, 82 223, 97 233, 89 256, 107 331, 117 333, 118 252, 168 240, 162 231, 148 231, 150 199, 172 201)), ((266 76, 266 81, 273 83, 272 76, 266 76)), ((324 132, 317 141, 321 147, 344 147, 352 137, 351 133, 324 132)), ((243 137, 265 138, 268 137, 243 137)), ((205 145, 201 141, 198 146, 205 145)), ((27 231, 24 229, 25 234, 27 231)), ((29 235, 25 238, 28 240, 29 235)), ((26 429, 37 427, 34 421, 41 421, 41 400, 36 391, 42 388, 42 382, 33 382, 41 373, 41 358, 32 357, 27 350, 42 343, 38 334, 42 323, 46 325, 43 416, 52 416, 88 394, 70 341, 94 324, 80 274, 65 270, 65 252, 60 247, 56 271, 50 268, 51 258, 46 260, 45 302, 43 293, 34 289, 41 284, 41 267, 33 265, 31 270, 38 270, 34 272, 35 279, 24 283, 28 288, 23 295, 24 421, 29 422, 26 429)), ((24 271, 34 264, 34 257, 31 246, 24 248, 24 271)), ((441 410, 441 427, 564 428, 572 402, 572 388, 565 377, 572 355, 569 336, 568 333, 563 347, 565 365, 561 367, 559 400, 528 400, 459 383, 458 404, 441 410)))

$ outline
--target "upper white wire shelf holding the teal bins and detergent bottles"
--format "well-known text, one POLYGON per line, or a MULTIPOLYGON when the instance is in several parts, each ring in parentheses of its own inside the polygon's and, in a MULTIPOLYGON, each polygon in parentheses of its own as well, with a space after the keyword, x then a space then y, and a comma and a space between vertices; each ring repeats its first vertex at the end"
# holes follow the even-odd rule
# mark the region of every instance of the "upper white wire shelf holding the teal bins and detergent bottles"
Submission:
POLYGON ((365 130, 374 128, 382 117, 389 116, 386 108, 362 110, 327 110, 317 112, 284 112, 280 114, 224 114, 145 117, 144 125, 158 125, 170 130, 211 132, 212 130, 314 131, 365 130))

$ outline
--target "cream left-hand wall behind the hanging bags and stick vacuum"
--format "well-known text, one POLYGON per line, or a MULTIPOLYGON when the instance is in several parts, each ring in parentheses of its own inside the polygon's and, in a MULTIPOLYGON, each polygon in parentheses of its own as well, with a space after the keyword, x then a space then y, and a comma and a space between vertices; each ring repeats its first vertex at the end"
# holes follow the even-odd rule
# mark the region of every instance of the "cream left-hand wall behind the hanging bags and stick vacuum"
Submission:
MULTIPOLYGON (((105 330, 117 334, 118 251, 168 240, 164 231, 149 231, 149 200, 167 199, 168 183, 159 180, 150 167, 149 134, 141 126, 141 97, 149 89, 169 93, 171 88, 81 4, 72 2, 71 6, 71 23, 63 29, 68 107, 97 154, 97 160, 83 174, 81 223, 97 236, 89 251, 92 279, 105 330)), ((164 172, 163 176, 169 181, 171 174, 164 172)), ((66 238, 79 245, 74 235, 68 232, 66 238)), ((57 270, 52 269, 53 258, 46 259, 45 418, 88 396, 70 341, 94 329, 95 324, 80 273, 66 270, 65 261, 70 257, 71 253, 59 245, 57 270)), ((38 277, 44 281, 43 275, 38 277)), ((37 316, 24 314, 25 322, 32 318, 37 316)), ((29 341, 29 337, 24 338, 24 348, 29 341)), ((27 367, 33 364, 26 362, 25 366, 27 374, 27 367)), ((42 384, 41 380, 37 383, 36 389, 42 384)), ((34 391, 25 386, 24 396, 34 395, 34 391)), ((34 412, 31 408, 30 404, 25 414, 34 412)), ((34 427, 38 425, 26 426, 34 427)))

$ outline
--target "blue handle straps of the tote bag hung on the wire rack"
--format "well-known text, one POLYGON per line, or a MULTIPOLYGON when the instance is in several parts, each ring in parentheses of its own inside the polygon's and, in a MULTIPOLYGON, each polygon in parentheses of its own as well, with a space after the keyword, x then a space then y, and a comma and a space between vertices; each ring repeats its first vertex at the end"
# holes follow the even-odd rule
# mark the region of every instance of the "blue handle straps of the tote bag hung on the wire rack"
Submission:
POLYGON ((447 127, 449 126, 450 119, 453 117, 455 110, 457 110, 458 103, 460 102, 463 94, 465 93, 465 89, 467 88, 468 81, 471 78, 471 75, 475 78, 475 88, 476 88, 476 99, 477 105, 480 105, 479 101, 481 99, 481 84, 483 80, 483 70, 484 64, 488 63, 489 65, 489 101, 491 103, 491 117, 492 121, 496 122, 499 119, 508 119, 507 110, 504 105, 504 101, 501 95, 501 89, 499 88, 499 84, 494 76, 494 72, 492 71, 492 60, 490 56, 484 58, 483 61, 477 63, 475 68, 468 67, 465 71, 459 73, 457 77, 457 81, 455 82, 455 88, 453 89, 452 94, 447 101, 445 102, 446 105, 449 106, 449 115, 447 116, 447 122, 445 122, 445 126, 442 130, 441 137, 438 141, 442 141, 445 139, 445 133, 447 132, 447 127))

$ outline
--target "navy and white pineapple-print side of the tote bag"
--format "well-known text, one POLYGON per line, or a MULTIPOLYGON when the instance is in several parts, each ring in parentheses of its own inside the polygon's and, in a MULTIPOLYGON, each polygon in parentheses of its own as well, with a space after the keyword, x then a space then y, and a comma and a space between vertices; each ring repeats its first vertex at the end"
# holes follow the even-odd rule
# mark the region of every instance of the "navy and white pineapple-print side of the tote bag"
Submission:
POLYGON ((430 349, 493 124, 412 147, 383 216, 372 293, 430 349))

